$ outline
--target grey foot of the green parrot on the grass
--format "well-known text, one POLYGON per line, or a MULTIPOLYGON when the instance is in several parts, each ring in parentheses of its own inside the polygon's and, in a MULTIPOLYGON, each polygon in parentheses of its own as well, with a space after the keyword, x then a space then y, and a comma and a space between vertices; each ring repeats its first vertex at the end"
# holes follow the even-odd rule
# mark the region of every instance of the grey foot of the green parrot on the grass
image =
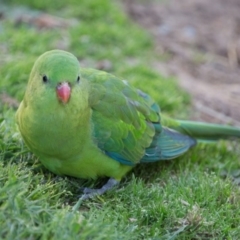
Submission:
POLYGON ((107 183, 102 186, 102 188, 99 189, 92 189, 92 188, 84 188, 83 189, 83 195, 80 197, 81 200, 86 200, 88 198, 93 198, 97 195, 102 195, 106 191, 112 189, 116 185, 119 184, 119 181, 115 180, 114 178, 109 178, 107 183))

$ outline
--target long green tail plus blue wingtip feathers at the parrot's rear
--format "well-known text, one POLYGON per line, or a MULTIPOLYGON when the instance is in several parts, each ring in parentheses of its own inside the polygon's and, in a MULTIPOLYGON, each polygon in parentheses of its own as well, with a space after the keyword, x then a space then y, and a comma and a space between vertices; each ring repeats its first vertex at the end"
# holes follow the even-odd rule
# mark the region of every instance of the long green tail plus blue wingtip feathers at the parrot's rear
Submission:
MULTIPOLYGON (((141 162, 155 162, 176 158, 197 142, 215 142, 219 139, 240 138, 240 128, 202 123, 163 119, 164 127, 156 132, 152 144, 146 149, 141 162)), ((156 130, 158 125, 156 125, 156 130)))

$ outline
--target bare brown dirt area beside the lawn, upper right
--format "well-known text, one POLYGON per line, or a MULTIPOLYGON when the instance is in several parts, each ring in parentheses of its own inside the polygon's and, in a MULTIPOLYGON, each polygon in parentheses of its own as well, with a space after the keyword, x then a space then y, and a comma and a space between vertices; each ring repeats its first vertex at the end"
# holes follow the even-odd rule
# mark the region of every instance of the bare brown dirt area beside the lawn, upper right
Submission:
POLYGON ((126 11, 153 35, 161 73, 193 96, 193 118, 240 125, 240 1, 125 0, 126 11))

